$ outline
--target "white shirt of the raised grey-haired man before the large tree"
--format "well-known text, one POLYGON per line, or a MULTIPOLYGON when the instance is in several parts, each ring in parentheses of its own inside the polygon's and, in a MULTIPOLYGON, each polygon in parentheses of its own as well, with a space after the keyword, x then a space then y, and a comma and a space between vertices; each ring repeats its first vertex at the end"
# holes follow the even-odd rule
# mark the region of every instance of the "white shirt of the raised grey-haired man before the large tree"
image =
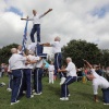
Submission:
POLYGON ((53 43, 50 43, 50 45, 52 47, 53 53, 61 52, 61 44, 60 44, 60 41, 53 41, 53 43))

